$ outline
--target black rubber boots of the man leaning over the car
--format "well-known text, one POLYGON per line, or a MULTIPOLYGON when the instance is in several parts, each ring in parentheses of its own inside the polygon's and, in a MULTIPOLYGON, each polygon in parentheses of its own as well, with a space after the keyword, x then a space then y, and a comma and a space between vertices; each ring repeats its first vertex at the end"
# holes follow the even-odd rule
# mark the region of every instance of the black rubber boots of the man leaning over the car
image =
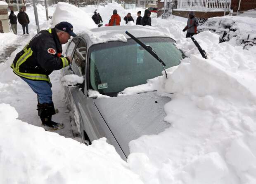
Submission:
POLYGON ((38 103, 38 116, 42 121, 43 126, 45 126, 45 130, 59 130, 64 128, 63 124, 56 123, 52 121, 52 115, 55 114, 55 108, 53 103, 38 103))

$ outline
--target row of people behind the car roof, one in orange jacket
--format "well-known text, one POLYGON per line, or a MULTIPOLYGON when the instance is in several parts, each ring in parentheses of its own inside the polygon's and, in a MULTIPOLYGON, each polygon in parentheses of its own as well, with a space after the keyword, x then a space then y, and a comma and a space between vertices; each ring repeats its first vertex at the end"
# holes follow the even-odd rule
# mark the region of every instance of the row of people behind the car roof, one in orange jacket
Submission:
MULTIPOLYGON (((151 26, 151 17, 150 17, 151 12, 148 9, 145 9, 144 16, 141 16, 141 11, 137 12, 137 19, 136 19, 136 25, 142 25, 142 26, 151 26)), ((94 15, 92 16, 92 20, 96 24, 102 23, 102 17, 100 16, 99 13, 94 12, 94 15)), ((126 24, 130 21, 134 22, 133 17, 131 16, 130 13, 128 13, 124 18, 124 21, 126 21, 126 24)), ((109 19, 109 23, 106 24, 105 26, 120 26, 121 22, 121 17, 119 14, 117 14, 117 10, 113 10, 113 15, 109 19)))

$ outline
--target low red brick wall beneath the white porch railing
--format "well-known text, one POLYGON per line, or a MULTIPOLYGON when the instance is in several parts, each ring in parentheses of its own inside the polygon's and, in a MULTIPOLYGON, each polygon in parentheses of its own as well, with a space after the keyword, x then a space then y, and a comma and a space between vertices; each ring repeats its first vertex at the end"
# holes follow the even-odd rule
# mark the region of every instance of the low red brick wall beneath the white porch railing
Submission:
MULTIPOLYGON (((188 10, 188 11, 173 10, 173 15, 188 18, 189 11, 190 10, 188 10)), ((194 13, 195 13, 195 17, 204 18, 204 19, 208 19, 208 18, 214 17, 214 16, 223 16, 224 15, 224 12, 197 12, 197 11, 194 11, 194 13)), ((229 12, 226 12, 226 15, 228 15, 228 14, 229 14, 229 12)))

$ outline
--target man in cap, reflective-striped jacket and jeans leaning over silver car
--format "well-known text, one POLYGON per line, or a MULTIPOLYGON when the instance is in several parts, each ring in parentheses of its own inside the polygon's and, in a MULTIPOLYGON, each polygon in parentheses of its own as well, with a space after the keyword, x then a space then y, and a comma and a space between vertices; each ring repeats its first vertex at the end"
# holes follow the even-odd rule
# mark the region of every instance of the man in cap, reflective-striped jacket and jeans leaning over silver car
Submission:
POLYGON ((37 94, 38 116, 47 130, 64 127, 52 121, 55 108, 49 75, 54 70, 69 66, 72 62, 70 57, 62 56, 62 44, 66 44, 70 36, 75 37, 76 34, 68 22, 60 22, 55 28, 41 30, 16 55, 11 65, 14 74, 21 77, 37 94))

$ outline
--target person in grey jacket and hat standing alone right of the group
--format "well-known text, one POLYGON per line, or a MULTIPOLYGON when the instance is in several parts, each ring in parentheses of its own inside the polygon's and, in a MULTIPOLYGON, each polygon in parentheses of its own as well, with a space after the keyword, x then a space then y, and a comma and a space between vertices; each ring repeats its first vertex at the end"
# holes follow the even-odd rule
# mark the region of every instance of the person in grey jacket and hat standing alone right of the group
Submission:
POLYGON ((194 16, 194 12, 190 11, 189 19, 187 19, 187 26, 182 30, 183 32, 187 31, 186 38, 192 37, 197 34, 197 18, 194 16))

